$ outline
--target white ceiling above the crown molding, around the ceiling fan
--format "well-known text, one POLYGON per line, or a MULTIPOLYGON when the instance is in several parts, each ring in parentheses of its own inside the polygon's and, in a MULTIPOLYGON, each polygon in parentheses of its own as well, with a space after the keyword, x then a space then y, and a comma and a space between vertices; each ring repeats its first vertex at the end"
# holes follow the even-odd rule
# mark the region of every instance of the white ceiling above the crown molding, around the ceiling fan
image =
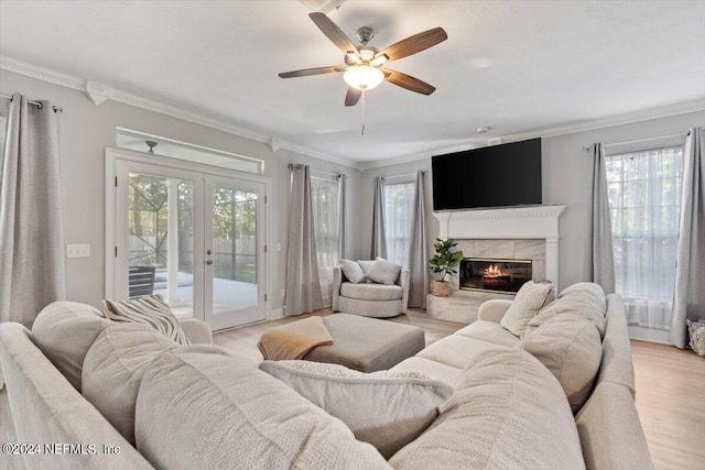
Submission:
POLYGON ((702 0, 347 0, 328 17, 350 37, 371 26, 380 50, 448 34, 390 64, 436 92, 383 83, 360 135, 341 74, 276 76, 343 64, 305 3, 0 0, 0 55, 358 163, 705 99, 702 0))

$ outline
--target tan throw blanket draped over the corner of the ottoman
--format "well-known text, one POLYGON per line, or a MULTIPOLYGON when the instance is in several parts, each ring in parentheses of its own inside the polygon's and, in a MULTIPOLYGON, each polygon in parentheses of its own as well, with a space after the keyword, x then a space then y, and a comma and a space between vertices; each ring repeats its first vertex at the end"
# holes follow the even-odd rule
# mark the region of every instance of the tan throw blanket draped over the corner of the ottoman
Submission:
POLYGON ((333 338, 321 317, 282 325, 267 331, 257 345, 271 361, 301 359, 317 346, 333 345, 333 338))

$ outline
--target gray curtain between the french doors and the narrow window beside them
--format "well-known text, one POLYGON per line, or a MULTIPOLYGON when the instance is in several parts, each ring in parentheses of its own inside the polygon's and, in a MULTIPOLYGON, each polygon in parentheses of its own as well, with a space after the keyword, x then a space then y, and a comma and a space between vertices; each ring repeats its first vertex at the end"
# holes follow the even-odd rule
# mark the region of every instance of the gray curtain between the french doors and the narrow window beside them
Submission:
POLYGON ((308 165, 293 165, 289 204, 285 316, 323 308, 308 165))

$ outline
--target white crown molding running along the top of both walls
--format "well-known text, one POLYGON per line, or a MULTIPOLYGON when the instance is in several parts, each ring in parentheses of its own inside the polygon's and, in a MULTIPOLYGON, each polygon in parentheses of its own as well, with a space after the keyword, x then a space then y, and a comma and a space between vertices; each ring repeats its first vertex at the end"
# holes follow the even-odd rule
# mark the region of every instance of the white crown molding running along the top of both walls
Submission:
MULTIPOLYGON (((334 3, 334 2, 330 2, 334 3)), ((229 134, 250 139, 256 142, 264 143, 270 146, 272 153, 274 153, 274 146, 276 149, 286 149, 292 152, 300 153, 302 155, 312 156, 315 159, 324 160, 330 163, 345 165, 351 168, 356 168, 360 172, 366 172, 371 168, 378 168, 383 166, 399 165, 403 163, 416 162, 420 160, 426 160, 432 154, 438 153, 452 153, 460 152, 464 150, 477 149, 477 139, 475 140, 462 140, 448 142, 447 145, 440 145, 436 147, 425 149, 421 152, 414 152, 406 155, 377 160, 371 162, 355 162, 349 159, 340 156, 330 156, 323 152, 307 149, 292 142, 288 142, 281 138, 267 135, 261 132, 256 132, 250 129, 242 128, 237 124, 232 124, 227 121, 214 119, 205 114, 188 111, 175 106, 166 105, 140 95, 135 95, 129 91, 112 88, 108 85, 96 83, 86 78, 77 77, 69 74, 64 74, 47 67, 31 64, 29 62, 20 61, 17 58, 8 57, 0 54, 0 69, 12 72, 18 75, 24 75, 26 77, 35 78, 50 84, 58 85, 73 90, 82 91, 91 99, 96 106, 110 99, 124 105, 134 106, 137 108, 145 109, 149 111, 158 112, 160 114, 170 116, 172 118, 181 119, 183 121, 193 122, 195 124, 205 125, 207 128, 216 129, 229 134), (275 141, 276 145, 272 142, 275 141)), ((636 111, 631 113, 615 116, 610 118, 596 119, 590 121, 583 121, 575 124, 557 125, 552 128, 538 129, 530 132, 523 132, 518 134, 501 135, 501 142, 512 142, 533 138, 553 138, 558 135, 574 134, 578 132, 587 132, 598 129, 611 128, 616 125, 631 124, 634 122, 649 121, 652 119, 668 118, 672 116, 685 114, 688 112, 705 111, 705 99, 698 99, 694 101, 686 101, 675 105, 670 105, 661 108, 654 108, 649 110, 636 111)))

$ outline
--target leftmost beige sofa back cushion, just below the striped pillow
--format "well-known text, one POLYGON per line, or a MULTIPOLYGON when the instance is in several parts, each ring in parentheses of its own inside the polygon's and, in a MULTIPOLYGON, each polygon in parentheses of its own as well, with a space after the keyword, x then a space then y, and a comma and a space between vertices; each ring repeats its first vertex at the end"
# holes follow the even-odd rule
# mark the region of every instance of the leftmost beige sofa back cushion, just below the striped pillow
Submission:
POLYGON ((90 305, 54 302, 36 316, 32 325, 32 340, 80 392, 86 352, 100 331, 110 325, 112 323, 90 305))

